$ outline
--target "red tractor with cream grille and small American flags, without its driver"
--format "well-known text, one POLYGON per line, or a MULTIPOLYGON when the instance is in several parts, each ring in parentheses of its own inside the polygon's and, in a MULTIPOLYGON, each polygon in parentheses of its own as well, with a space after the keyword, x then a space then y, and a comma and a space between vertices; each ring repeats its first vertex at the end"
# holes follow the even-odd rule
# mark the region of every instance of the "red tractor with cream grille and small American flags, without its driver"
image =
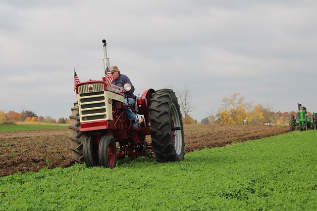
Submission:
MULTIPOLYGON (((106 41, 103 43, 106 70, 110 65, 106 41)), ((103 80, 80 82, 75 70, 74 80, 77 102, 69 116, 69 137, 76 162, 114 168, 117 159, 125 156, 147 156, 159 162, 184 159, 183 122, 173 90, 150 88, 136 98, 131 109, 141 118, 138 129, 131 130, 126 115, 130 106, 124 104, 124 93, 130 91, 131 84, 118 87, 108 83, 106 73, 103 80)))

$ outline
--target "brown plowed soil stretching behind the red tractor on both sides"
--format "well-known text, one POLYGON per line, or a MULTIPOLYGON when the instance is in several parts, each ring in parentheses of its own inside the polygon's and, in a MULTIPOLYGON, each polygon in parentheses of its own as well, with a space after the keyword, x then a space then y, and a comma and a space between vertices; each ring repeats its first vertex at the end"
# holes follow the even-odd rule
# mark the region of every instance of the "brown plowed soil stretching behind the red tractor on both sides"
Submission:
MULTIPOLYGON (((288 126, 184 125, 185 152, 221 147, 289 131, 288 126)), ((68 129, 0 131, 0 176, 72 166, 68 129)))

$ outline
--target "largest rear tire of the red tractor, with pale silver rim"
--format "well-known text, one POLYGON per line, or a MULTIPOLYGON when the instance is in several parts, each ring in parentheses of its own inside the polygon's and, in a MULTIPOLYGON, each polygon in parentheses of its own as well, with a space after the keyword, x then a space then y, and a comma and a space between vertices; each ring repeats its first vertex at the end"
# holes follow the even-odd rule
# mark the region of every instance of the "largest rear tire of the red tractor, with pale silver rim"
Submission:
POLYGON ((160 89, 150 106, 151 138, 159 162, 184 160, 184 128, 175 92, 160 89))

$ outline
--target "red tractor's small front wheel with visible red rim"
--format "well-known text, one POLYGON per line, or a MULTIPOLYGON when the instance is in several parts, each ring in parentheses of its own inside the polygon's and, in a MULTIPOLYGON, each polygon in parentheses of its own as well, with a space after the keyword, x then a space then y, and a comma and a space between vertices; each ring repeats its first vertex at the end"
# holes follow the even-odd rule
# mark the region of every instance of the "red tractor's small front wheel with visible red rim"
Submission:
POLYGON ((117 163, 117 149, 113 135, 106 134, 100 139, 99 164, 105 168, 114 168, 117 163))

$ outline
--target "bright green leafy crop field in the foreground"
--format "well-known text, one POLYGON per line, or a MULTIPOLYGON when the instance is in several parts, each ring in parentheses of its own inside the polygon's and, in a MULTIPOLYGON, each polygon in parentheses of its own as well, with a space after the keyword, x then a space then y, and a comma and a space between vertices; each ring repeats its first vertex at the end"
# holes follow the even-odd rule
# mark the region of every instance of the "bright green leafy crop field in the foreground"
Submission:
POLYGON ((0 210, 317 210, 317 130, 114 169, 74 165, 0 177, 0 210))

